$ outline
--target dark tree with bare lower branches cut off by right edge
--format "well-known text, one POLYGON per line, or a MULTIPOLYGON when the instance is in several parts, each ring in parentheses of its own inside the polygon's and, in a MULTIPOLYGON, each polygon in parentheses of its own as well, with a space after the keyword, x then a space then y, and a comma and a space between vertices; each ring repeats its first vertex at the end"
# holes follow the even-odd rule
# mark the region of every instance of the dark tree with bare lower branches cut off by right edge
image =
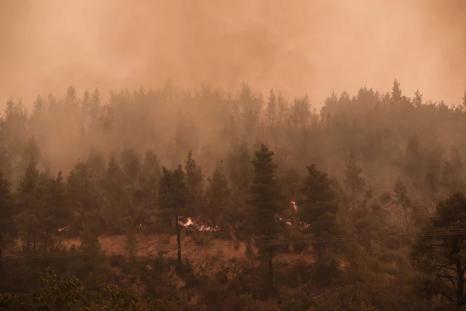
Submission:
MULTIPOLYGON (((466 198, 453 193, 440 201, 428 224, 422 229, 427 232, 442 229, 462 229, 466 227, 466 198)), ((424 272, 434 273, 443 281, 438 288, 449 301, 458 308, 466 304, 466 235, 423 235, 413 246, 412 259, 424 272)))

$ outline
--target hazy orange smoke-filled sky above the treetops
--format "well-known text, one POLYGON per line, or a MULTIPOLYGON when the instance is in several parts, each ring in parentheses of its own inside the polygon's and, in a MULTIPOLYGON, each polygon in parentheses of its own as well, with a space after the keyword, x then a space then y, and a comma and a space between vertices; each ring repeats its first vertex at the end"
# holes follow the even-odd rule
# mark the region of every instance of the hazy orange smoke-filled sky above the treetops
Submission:
POLYGON ((67 86, 389 90, 459 103, 463 0, 0 0, 0 108, 67 86))

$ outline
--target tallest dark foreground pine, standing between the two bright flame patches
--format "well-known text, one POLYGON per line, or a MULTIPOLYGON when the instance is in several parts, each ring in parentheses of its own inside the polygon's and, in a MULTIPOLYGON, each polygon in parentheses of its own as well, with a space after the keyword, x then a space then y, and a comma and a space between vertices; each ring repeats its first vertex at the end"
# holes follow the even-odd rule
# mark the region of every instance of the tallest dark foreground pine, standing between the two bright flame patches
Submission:
MULTIPOLYGON (((278 218, 285 205, 282 203, 283 195, 275 180, 275 167, 272 151, 264 144, 261 149, 254 152, 255 159, 251 161, 254 167, 254 178, 250 187, 250 203, 253 207, 253 234, 259 238, 273 240, 280 231, 278 218)), ((269 265, 270 284, 273 286, 272 259, 275 248, 267 245, 262 248, 266 251, 269 265)))

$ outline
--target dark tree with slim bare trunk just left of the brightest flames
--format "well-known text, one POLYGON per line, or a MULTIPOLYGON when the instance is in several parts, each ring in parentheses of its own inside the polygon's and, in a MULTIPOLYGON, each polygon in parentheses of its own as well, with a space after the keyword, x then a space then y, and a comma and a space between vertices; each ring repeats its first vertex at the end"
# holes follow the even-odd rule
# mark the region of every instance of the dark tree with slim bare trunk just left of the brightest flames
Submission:
POLYGON ((162 168, 162 178, 159 183, 159 206, 165 215, 174 219, 176 226, 176 242, 178 245, 178 264, 181 265, 181 225, 180 220, 186 218, 186 207, 189 202, 183 168, 178 165, 176 170, 162 168))

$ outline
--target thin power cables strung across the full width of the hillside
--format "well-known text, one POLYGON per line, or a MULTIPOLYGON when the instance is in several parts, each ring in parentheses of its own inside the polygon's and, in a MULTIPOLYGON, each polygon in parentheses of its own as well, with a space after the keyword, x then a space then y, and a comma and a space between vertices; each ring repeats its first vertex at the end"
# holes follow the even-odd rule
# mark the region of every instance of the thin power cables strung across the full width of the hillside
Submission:
MULTIPOLYGON (((319 243, 319 242, 349 242, 349 241, 364 241, 364 240, 378 240, 389 238, 408 238, 408 237, 428 237, 428 236, 447 236, 466 234, 466 228, 459 229, 446 229, 446 230, 429 230, 429 231, 410 231, 410 232, 392 232, 392 233, 379 233, 379 234, 362 234, 362 235, 342 235, 330 237, 311 237, 311 238, 298 238, 298 239, 276 239, 276 240, 260 240, 254 242, 218 242, 204 245, 188 244, 182 245, 182 251, 196 250, 196 249, 215 249, 215 248, 230 248, 241 246, 267 246, 267 245, 286 245, 286 244, 302 244, 302 243, 319 243)), ((137 247, 134 249, 114 248, 107 250, 89 250, 89 251, 66 251, 66 252, 51 252, 51 253, 35 253, 35 254, 16 254, 4 255, 0 260, 11 259, 52 259, 52 258, 68 258, 77 256, 93 256, 105 255, 107 252, 115 254, 125 254, 131 252, 142 251, 173 251, 177 250, 177 245, 166 246, 146 246, 137 247)))

